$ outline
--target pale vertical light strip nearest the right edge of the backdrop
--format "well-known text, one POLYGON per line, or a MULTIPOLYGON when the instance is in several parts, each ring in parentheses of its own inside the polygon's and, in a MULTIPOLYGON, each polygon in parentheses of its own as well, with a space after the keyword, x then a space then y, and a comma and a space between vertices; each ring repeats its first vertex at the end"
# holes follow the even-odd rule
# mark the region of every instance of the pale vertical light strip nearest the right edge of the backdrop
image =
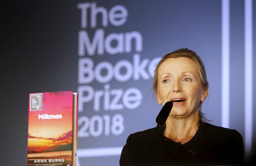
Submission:
POLYGON ((244 3, 244 142, 245 155, 250 157, 253 133, 252 0, 244 3))

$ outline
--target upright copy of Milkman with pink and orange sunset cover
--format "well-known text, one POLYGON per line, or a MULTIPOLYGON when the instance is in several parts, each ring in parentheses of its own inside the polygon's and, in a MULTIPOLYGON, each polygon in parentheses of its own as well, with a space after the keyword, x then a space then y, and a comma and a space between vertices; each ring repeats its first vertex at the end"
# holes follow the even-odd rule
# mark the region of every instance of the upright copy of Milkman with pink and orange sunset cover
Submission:
POLYGON ((77 102, 73 91, 29 94, 28 166, 75 166, 77 102))

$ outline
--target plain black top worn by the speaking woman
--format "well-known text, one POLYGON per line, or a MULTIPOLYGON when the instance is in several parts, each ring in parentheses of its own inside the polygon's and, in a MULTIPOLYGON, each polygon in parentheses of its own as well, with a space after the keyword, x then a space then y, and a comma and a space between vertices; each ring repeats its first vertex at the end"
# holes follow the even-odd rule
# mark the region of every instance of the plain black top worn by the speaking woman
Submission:
POLYGON ((164 139, 164 127, 131 134, 120 165, 242 165, 243 139, 234 129, 200 122, 185 144, 164 139))

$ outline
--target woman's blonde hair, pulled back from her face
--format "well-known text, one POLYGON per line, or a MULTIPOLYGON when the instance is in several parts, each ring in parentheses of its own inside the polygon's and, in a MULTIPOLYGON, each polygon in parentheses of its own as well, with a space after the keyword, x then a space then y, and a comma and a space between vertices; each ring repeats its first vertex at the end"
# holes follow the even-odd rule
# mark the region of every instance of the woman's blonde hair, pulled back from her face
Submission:
MULTIPOLYGON (((187 48, 181 48, 181 49, 178 49, 176 51, 166 54, 162 58, 162 60, 158 63, 155 73, 154 73, 154 77, 153 77, 152 88, 154 89, 154 91, 156 92, 158 89, 158 70, 159 70, 159 67, 161 66, 161 64, 169 58, 179 58, 179 57, 187 57, 196 63, 198 72, 200 75, 201 86, 204 90, 207 89, 209 87, 209 84, 208 84, 207 77, 206 77, 205 67, 204 67, 203 62, 201 61, 201 58, 197 55, 196 52, 189 50, 187 48)), ((208 96, 208 94, 207 94, 207 96, 208 96)), ((199 104, 199 118, 201 121, 202 120, 205 121, 207 119, 203 116, 203 113, 201 112, 201 108, 202 108, 202 101, 200 101, 200 104, 199 104)))

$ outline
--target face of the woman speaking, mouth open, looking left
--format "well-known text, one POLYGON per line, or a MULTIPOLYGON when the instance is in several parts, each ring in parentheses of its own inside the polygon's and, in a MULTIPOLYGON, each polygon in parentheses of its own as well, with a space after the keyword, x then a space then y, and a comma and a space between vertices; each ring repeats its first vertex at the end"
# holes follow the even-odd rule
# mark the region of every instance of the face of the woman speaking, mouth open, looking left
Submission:
POLYGON ((188 117, 199 110, 200 101, 204 101, 208 89, 203 89, 200 75, 194 61, 186 57, 169 58, 158 70, 159 104, 173 101, 170 113, 172 117, 188 117))

